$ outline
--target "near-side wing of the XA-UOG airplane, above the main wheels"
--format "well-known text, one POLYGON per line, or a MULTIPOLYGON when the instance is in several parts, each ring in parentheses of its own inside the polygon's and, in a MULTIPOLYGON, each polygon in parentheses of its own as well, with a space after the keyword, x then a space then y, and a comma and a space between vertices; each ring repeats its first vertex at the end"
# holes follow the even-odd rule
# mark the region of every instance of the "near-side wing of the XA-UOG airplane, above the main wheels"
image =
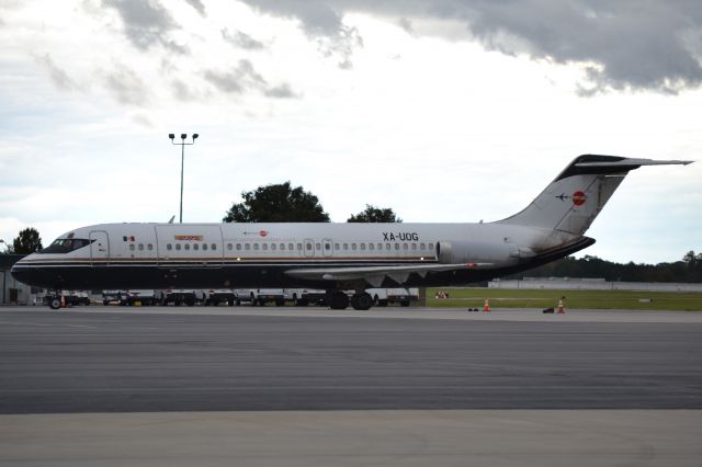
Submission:
POLYGON ((430 272, 460 271, 490 266, 492 263, 468 264, 408 264, 403 266, 349 266, 349 267, 317 267, 285 271, 291 277, 313 281, 353 281, 364 280, 374 287, 380 287, 385 277, 398 284, 407 281, 410 274, 419 274, 422 278, 430 272))

